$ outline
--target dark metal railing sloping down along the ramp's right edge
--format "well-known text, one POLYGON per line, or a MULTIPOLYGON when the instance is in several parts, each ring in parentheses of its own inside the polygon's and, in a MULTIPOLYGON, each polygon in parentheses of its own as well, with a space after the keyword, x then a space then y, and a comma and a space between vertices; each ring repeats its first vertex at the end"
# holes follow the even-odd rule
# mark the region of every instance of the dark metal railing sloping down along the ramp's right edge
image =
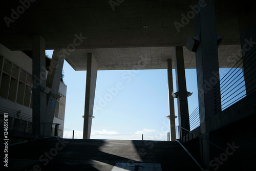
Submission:
MULTIPOLYGON (((212 167, 211 161, 214 161, 217 156, 228 156, 228 162, 222 162, 222 164, 219 165, 221 168, 220 170, 230 170, 231 168, 241 168, 241 170, 246 170, 246 168, 255 168, 252 162, 249 162, 248 159, 234 153, 230 155, 230 153, 227 152, 228 148, 225 149, 225 147, 220 147, 181 126, 177 126, 176 138, 176 141, 181 143, 190 155, 204 167, 204 169, 212 167), (227 155, 226 153, 229 154, 227 155), (209 161, 209 163, 206 161, 209 161)), ((210 170, 211 169, 212 168, 210 168, 210 170)))

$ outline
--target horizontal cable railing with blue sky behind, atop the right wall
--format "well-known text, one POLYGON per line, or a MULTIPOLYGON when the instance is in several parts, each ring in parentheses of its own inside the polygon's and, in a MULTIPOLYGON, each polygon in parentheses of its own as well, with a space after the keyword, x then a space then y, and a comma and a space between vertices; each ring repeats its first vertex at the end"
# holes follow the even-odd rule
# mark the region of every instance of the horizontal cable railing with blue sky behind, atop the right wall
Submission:
POLYGON ((221 93, 215 97, 221 97, 221 102, 216 104, 218 106, 217 113, 256 90, 254 84, 256 73, 251 70, 256 67, 256 58, 250 54, 246 54, 246 58, 238 60, 234 67, 220 80, 221 93))

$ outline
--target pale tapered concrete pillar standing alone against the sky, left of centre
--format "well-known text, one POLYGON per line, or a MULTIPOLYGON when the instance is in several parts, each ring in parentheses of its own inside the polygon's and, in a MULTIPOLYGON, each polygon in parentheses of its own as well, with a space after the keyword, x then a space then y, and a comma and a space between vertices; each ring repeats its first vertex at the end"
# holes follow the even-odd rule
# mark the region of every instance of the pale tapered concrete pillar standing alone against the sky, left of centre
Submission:
POLYGON ((84 106, 83 139, 90 139, 98 64, 91 53, 87 54, 86 102, 84 106))

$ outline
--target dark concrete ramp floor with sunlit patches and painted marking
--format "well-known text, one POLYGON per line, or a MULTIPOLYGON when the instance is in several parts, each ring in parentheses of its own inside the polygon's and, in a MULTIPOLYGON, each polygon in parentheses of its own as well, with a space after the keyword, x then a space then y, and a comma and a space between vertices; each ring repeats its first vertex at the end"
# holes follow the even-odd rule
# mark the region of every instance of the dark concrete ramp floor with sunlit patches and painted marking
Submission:
POLYGON ((9 146, 8 156, 8 169, 2 164, 0 170, 200 170, 169 141, 50 138, 9 146))

